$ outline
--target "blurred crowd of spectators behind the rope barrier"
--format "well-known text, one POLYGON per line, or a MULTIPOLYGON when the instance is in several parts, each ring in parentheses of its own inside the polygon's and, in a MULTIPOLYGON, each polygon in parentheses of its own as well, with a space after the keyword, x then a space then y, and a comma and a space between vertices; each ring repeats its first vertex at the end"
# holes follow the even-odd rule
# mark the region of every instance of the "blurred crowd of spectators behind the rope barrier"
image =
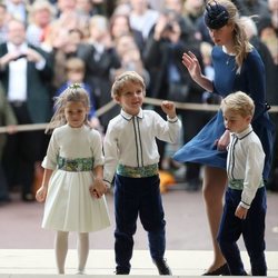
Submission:
MULTIPOLYGON (((235 0, 250 42, 266 66, 267 100, 278 105, 278 0, 235 0), (250 18, 251 16, 251 18, 250 18)), ((90 123, 105 135, 113 107, 97 116, 111 100, 115 77, 126 70, 140 73, 147 97, 182 103, 219 103, 203 91, 181 63, 192 51, 214 78, 212 41, 203 23, 205 0, 2 0, 0 2, 0 202, 20 190, 33 201, 40 163, 49 135, 43 130, 17 132, 16 125, 48 122, 53 97, 81 82, 90 93, 90 123)), ((159 107, 149 107, 161 113, 159 107)), ((271 110, 270 110, 271 112, 271 110)), ((178 110, 182 132, 177 146, 161 142, 161 181, 183 182, 185 190, 201 188, 201 166, 179 165, 171 155, 210 119, 211 111, 178 110)), ((278 113, 270 113, 278 122, 278 113)), ((163 117, 163 116, 162 116, 163 117)), ((278 191, 276 139, 272 172, 267 185, 278 191)))

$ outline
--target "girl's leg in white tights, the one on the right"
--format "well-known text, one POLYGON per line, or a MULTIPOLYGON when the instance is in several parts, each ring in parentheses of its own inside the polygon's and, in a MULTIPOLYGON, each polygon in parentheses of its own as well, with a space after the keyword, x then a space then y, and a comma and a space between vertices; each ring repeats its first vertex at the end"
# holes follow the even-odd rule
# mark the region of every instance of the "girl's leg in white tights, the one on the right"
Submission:
POLYGON ((78 235, 78 272, 83 272, 89 255, 89 234, 80 232, 78 235))

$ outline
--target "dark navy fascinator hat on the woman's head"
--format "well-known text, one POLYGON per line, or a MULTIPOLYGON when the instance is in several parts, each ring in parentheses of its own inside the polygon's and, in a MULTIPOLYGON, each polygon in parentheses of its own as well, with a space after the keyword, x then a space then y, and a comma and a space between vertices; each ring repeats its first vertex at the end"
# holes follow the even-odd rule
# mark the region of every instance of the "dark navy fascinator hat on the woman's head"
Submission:
POLYGON ((208 3, 206 6, 205 22, 209 29, 219 29, 227 24, 229 12, 222 6, 217 3, 208 3))

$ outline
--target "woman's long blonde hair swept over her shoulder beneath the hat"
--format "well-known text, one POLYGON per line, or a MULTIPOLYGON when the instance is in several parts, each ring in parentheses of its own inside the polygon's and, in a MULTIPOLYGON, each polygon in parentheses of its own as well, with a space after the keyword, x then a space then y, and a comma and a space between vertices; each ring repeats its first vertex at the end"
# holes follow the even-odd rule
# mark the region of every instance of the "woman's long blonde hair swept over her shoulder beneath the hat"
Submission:
POLYGON ((236 53, 236 63, 238 66, 237 72, 240 72, 242 62, 247 57, 248 52, 251 51, 252 46, 250 44, 244 23, 240 20, 238 9, 235 3, 229 0, 209 0, 208 3, 210 4, 221 4, 226 8, 229 13, 229 19, 227 24, 234 26, 234 43, 235 43, 235 53, 236 53))

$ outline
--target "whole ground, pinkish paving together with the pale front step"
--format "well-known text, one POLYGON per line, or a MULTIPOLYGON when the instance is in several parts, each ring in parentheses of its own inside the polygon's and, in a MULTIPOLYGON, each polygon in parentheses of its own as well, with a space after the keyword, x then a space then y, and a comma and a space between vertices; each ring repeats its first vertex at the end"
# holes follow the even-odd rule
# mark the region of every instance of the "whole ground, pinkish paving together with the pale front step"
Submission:
MULTIPOLYGON (((176 277, 200 276, 211 261, 212 251, 201 192, 187 192, 182 185, 162 195, 167 219, 167 254, 176 277)), ((90 256, 87 272, 91 277, 112 277, 113 202, 107 196, 111 227, 90 235, 90 256)), ((268 192, 266 225, 268 276, 278 278, 278 193, 268 192)), ((0 206, 0 278, 56 277, 52 231, 41 229, 43 205, 22 202, 12 195, 12 202, 0 206)), ((239 242, 249 270, 248 256, 239 242)), ((67 274, 76 272, 76 238, 70 236, 67 274)), ((130 278, 153 277, 157 270, 150 260, 146 232, 138 224, 130 278)), ((76 276, 78 277, 78 276, 76 276)))

